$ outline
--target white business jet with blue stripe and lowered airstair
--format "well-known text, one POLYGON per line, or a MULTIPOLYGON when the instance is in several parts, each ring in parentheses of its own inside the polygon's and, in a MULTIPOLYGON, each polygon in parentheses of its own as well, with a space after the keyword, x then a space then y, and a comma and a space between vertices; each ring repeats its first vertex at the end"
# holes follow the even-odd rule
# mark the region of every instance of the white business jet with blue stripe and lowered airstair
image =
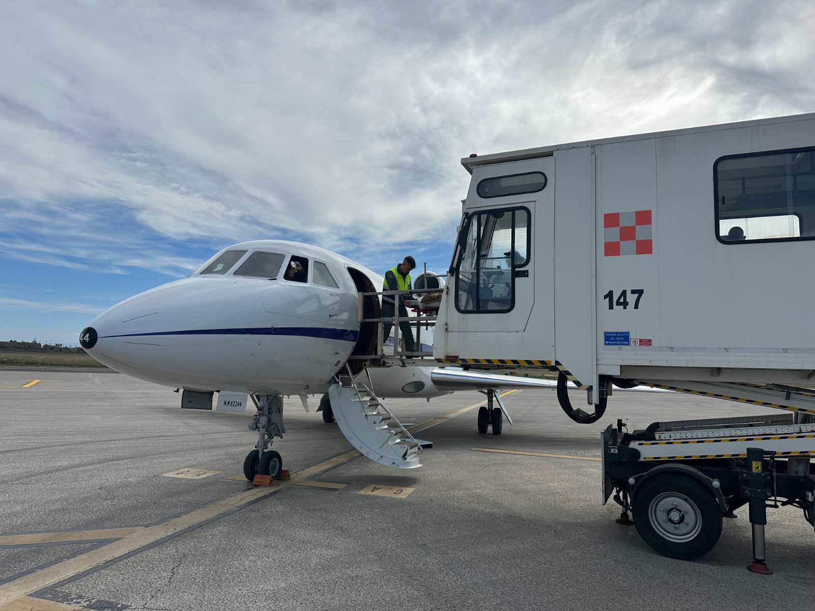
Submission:
MULTIPOLYGON (((258 473, 280 475, 283 461, 271 443, 285 433, 284 395, 299 396, 307 410, 308 395, 328 393, 352 445, 392 467, 421 466, 421 446, 382 398, 486 390, 490 404, 496 398, 500 405, 489 416, 493 432, 500 432, 502 414, 509 415, 495 389, 532 387, 537 380, 449 368, 363 367, 363 360, 352 358, 376 352, 378 323, 359 322, 358 299, 381 286, 380 275, 323 248, 244 242, 185 279, 105 310, 82 330, 80 344, 121 373, 184 389, 189 397, 201 393, 210 408, 214 391, 252 396, 258 413, 249 429, 258 431, 258 444, 244 463, 250 481, 258 473)), ((377 297, 365 297, 362 310, 363 319, 379 318, 377 297)))

